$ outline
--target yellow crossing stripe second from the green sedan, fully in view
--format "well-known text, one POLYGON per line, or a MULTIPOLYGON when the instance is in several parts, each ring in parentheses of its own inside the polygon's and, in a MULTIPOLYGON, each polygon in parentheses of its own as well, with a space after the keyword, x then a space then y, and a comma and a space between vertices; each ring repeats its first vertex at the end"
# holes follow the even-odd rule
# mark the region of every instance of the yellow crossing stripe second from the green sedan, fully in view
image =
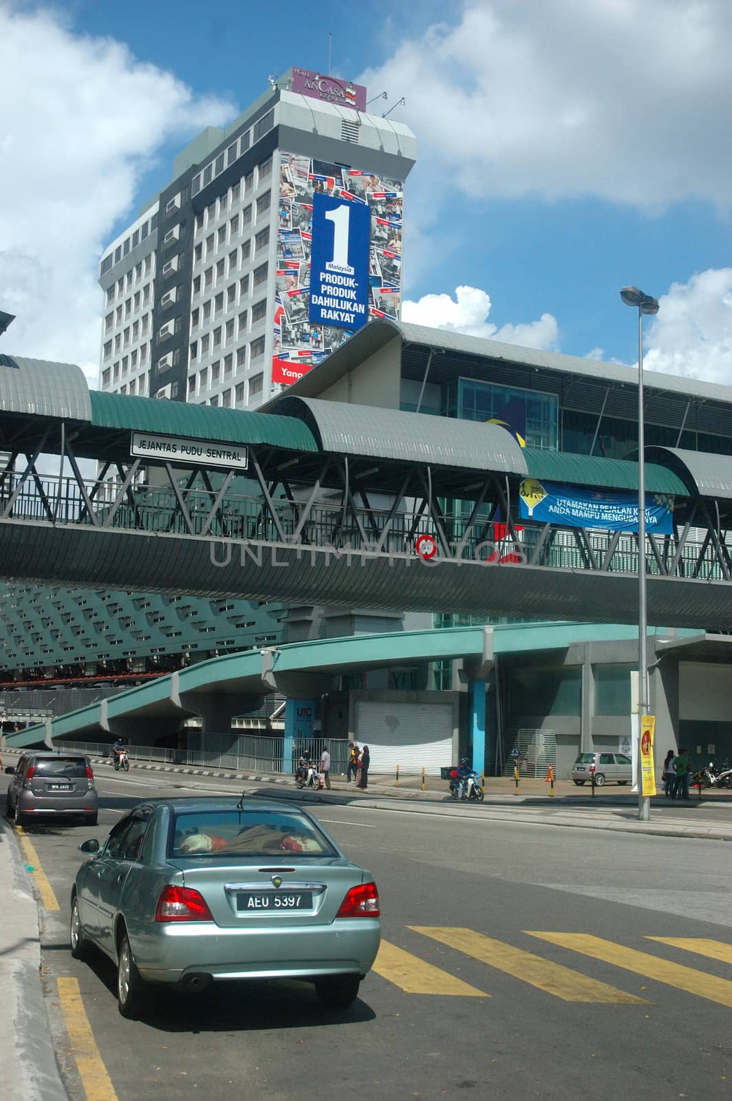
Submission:
POLYGON ((431 928, 422 925, 412 925, 409 928, 439 940, 443 945, 449 945, 450 948, 457 948, 466 956, 472 956, 473 959, 512 974, 515 979, 528 982, 532 986, 538 986, 539 990, 545 990, 555 998, 561 998, 565 1002, 648 1004, 645 999, 636 998, 635 994, 626 994, 625 991, 609 986, 598 979, 590 979, 560 963, 545 960, 540 956, 534 956, 533 952, 525 952, 502 940, 484 937, 481 933, 473 933, 472 929, 431 928))

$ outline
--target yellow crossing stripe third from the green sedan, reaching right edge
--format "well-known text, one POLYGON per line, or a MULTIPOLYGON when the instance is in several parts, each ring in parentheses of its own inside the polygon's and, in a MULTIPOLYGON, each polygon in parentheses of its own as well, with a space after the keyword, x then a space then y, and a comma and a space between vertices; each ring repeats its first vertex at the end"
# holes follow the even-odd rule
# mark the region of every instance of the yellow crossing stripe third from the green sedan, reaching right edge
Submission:
MULTIPOLYGON (((528 933, 528 929, 526 931, 528 933)), ((732 982, 729 979, 719 979, 714 974, 696 971, 682 963, 671 963, 658 956, 651 956, 649 952, 640 952, 635 948, 625 948, 612 940, 603 940, 602 937, 591 937, 583 933, 529 933, 529 936, 539 937, 542 940, 560 945, 583 956, 591 956, 605 963, 613 963, 626 971, 643 974, 647 979, 668 983, 669 986, 686 990, 689 994, 706 998, 710 1002, 717 1002, 718 1005, 732 1006, 732 982)))

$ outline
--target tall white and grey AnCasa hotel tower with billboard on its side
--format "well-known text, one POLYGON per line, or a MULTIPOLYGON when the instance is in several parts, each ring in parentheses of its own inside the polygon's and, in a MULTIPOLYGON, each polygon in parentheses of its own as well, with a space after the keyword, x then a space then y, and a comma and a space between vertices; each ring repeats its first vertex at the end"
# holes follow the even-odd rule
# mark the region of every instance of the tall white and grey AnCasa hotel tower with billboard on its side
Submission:
POLYGON ((255 407, 371 318, 398 318, 415 160, 412 131, 369 115, 364 87, 271 79, 178 154, 105 250, 100 389, 255 407))

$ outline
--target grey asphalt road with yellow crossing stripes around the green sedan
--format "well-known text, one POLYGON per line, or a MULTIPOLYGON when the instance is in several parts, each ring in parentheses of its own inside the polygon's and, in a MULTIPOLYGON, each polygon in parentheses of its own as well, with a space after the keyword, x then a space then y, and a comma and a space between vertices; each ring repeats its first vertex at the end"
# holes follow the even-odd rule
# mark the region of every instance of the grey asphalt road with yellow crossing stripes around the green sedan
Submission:
MULTIPOLYGON (((97 782, 100 840, 141 798, 233 791, 103 767, 97 782)), ((68 951, 88 829, 29 827, 61 904, 44 916, 43 968, 70 1097, 85 1092, 57 996, 65 977, 78 981, 106 1099, 729 1098, 732 846, 476 810, 315 809, 382 897, 386 947, 350 1010, 323 1009, 305 983, 231 983, 162 992, 144 1022, 119 1015, 105 958, 77 963, 68 951)))

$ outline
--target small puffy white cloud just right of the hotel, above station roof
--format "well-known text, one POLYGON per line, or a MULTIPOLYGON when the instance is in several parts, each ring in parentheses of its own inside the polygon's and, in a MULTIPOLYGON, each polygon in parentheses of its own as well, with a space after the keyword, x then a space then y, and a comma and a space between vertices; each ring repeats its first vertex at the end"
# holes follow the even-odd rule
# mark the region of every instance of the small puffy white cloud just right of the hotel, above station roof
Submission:
POLYGON ((471 337, 504 340, 524 348, 556 348, 558 328, 551 314, 542 314, 537 321, 503 325, 499 328, 488 320, 490 312, 491 298, 485 291, 474 286, 459 286, 455 298, 449 294, 425 294, 417 302, 406 299, 402 305, 402 319, 414 325, 465 333, 471 337))

